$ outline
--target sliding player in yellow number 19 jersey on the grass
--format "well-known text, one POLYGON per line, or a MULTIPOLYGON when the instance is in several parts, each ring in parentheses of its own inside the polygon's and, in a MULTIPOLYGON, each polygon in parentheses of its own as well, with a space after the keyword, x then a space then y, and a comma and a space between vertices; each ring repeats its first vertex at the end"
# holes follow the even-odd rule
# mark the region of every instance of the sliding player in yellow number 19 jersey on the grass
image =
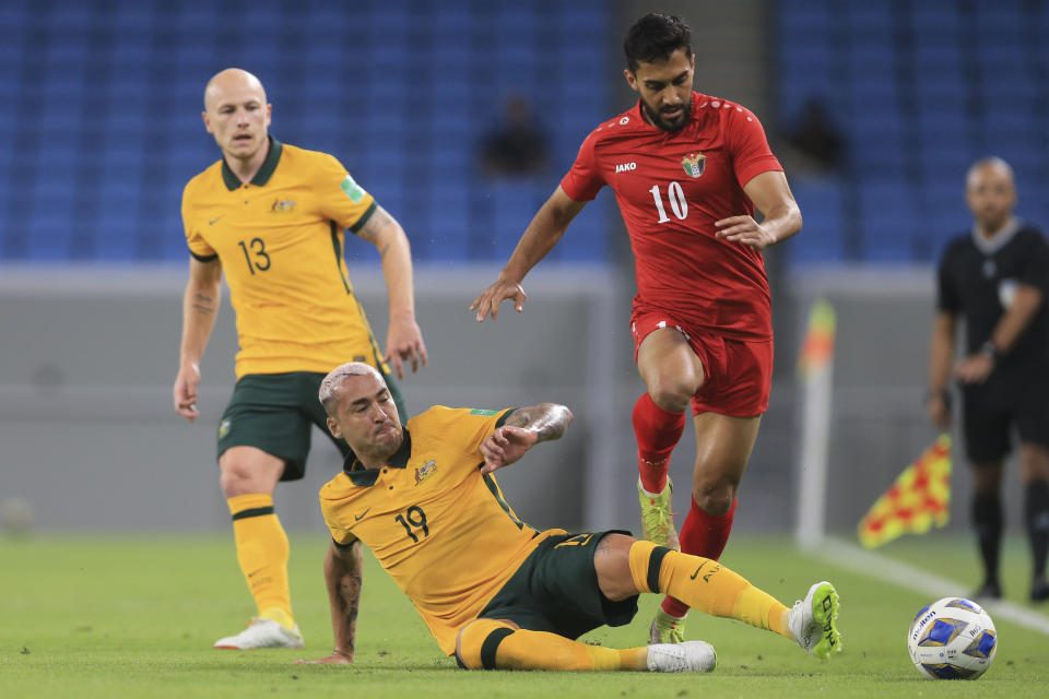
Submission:
POLYGON ((829 582, 789 609, 716 560, 627 532, 540 532, 518 519, 492 472, 564 435, 571 413, 563 405, 434 406, 402 427, 382 376, 362 363, 332 370, 319 396, 329 429, 352 453, 320 491, 335 648, 315 662, 353 661, 362 544, 440 649, 471 670, 714 670, 704 641, 616 650, 574 640, 629 623, 641 592, 776 631, 817 657, 841 648, 829 582))

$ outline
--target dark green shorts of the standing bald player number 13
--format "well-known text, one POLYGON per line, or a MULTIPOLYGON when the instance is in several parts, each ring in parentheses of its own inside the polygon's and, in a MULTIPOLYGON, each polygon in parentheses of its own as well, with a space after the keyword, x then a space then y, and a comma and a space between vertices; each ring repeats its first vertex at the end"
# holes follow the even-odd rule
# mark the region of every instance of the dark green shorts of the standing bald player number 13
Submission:
MULTIPOLYGON (((384 375, 401 423, 408 419, 393 377, 384 375)), ((256 447, 284 460, 281 481, 306 473, 309 437, 317 425, 343 455, 350 447, 328 431, 328 415, 317 399, 323 374, 249 374, 240 377, 219 420, 219 457, 231 447, 256 447)))

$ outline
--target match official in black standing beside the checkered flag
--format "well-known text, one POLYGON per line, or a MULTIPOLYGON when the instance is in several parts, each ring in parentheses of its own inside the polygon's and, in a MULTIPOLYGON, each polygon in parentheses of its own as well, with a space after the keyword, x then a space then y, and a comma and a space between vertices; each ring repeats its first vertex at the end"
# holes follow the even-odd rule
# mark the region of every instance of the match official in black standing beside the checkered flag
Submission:
POLYGON ((950 382, 962 389, 965 449, 974 467, 973 521, 983 583, 977 597, 1002 596, 1002 472, 1011 430, 1019 435, 1024 522, 1030 538, 1030 599, 1049 600, 1049 246, 1013 216, 1013 170, 998 157, 976 162, 966 177, 974 226, 951 241, 939 271, 927 408, 951 426, 950 382), (955 329, 965 320, 965 356, 955 362, 955 329))

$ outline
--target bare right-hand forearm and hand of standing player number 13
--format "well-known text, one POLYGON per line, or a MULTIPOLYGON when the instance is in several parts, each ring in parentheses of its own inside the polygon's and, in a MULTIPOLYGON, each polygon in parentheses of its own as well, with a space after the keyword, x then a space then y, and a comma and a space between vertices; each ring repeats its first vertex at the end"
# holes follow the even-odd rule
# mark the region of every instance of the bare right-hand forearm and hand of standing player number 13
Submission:
POLYGON ((412 371, 426 366, 426 345, 415 322, 415 287, 412 281, 412 249, 401 224, 377 206, 367 223, 357 232, 379 250, 382 276, 390 301, 390 328, 386 333, 384 360, 393 365, 397 378, 404 378, 403 363, 412 363, 412 371))

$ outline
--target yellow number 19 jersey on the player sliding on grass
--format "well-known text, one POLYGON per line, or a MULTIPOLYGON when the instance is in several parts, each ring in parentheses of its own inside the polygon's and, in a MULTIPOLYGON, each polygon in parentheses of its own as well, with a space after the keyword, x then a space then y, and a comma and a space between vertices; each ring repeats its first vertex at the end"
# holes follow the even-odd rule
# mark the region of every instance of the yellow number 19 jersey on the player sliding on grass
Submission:
MULTIPOLYGON (((440 649, 478 617, 540 542, 518 519, 481 443, 512 408, 435 405, 408 420, 404 442, 380 469, 343 471, 320 489, 335 544, 367 546, 423 617, 440 649)), ((346 469, 353 469, 353 454, 346 469)))

